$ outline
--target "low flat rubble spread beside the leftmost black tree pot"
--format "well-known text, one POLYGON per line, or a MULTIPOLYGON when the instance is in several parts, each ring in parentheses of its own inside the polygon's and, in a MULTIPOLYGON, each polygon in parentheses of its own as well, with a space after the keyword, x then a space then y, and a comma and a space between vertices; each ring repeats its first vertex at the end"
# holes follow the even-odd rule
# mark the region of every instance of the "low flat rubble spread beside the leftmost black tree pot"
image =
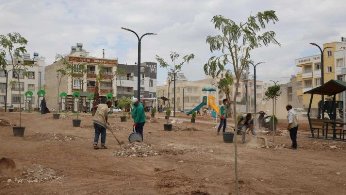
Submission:
POLYGON ((47 141, 47 142, 66 142, 66 141, 75 141, 75 140, 80 140, 80 137, 76 137, 73 135, 64 135, 60 133, 38 133, 36 132, 33 135, 28 135, 23 137, 24 140, 26 141, 36 141, 36 142, 41 142, 41 141, 47 141))

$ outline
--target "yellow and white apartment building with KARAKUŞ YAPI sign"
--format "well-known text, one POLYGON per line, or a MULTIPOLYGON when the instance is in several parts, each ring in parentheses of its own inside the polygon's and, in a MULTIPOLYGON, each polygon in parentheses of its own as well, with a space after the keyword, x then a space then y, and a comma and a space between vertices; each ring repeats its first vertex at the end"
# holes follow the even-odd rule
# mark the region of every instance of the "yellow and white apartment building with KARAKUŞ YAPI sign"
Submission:
MULTIPOLYGON (((302 68, 302 71, 297 74, 297 82, 302 82, 302 88, 297 89, 298 98, 302 97, 303 108, 308 108, 310 101, 310 94, 303 94, 315 87, 321 85, 321 68, 324 70, 324 83, 331 79, 345 81, 346 66, 345 66, 345 49, 346 43, 332 42, 323 44, 325 49, 323 53, 324 67, 321 67, 321 54, 303 57, 295 60, 295 65, 302 68)), ((318 50, 316 48, 316 50, 318 50)), ((337 96, 339 99, 340 96, 337 96)), ((331 97, 324 97, 324 100, 331 99, 331 97)), ((314 96, 312 106, 314 112, 317 109, 317 103, 321 98, 314 96)))

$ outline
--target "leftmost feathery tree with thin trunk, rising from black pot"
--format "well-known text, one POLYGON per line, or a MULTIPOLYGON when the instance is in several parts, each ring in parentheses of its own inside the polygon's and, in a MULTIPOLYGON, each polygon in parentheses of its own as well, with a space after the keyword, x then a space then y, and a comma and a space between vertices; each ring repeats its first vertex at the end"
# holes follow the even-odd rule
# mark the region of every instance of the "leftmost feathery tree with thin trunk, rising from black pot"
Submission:
MULTIPOLYGON (((6 69, 7 64, 12 65, 12 71, 17 75, 20 97, 19 108, 22 108, 19 75, 22 73, 24 76, 28 76, 27 67, 32 67, 31 63, 24 64, 24 59, 22 58, 22 54, 26 52, 25 45, 27 43, 28 41, 17 32, 0 35, 0 66, 6 69), (10 56, 10 62, 6 60, 6 56, 10 56)), ((22 127, 22 109, 19 109, 19 126, 22 127)))

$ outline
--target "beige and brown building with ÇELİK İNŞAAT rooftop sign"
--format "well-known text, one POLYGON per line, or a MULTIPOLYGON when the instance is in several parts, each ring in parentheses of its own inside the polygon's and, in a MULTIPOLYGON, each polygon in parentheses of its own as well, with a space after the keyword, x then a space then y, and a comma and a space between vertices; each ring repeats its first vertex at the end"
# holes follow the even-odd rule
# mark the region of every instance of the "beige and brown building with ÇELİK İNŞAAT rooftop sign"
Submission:
MULTIPOLYGON (((76 77, 65 75, 62 77, 59 85, 57 70, 65 68, 62 59, 45 67, 46 102, 48 108, 57 108, 60 101, 58 94, 66 92, 68 95, 66 100, 67 103, 65 104, 66 108, 70 107, 76 109, 76 107, 72 107, 74 101, 71 97, 75 91, 81 91, 81 104, 89 106, 90 102, 88 96, 95 92, 96 74, 98 74, 99 71, 98 65, 103 66, 102 82, 99 86, 101 103, 106 102, 106 95, 108 93, 113 94, 114 99, 116 99, 117 79, 113 73, 117 70, 118 59, 91 57, 89 52, 86 52, 82 47, 83 45, 81 43, 72 46, 71 53, 65 56, 65 59, 68 63, 76 66, 76 69, 80 63, 86 65, 88 72, 83 76, 83 83, 76 77)), ((76 72, 76 74, 78 74, 78 72, 76 72)))

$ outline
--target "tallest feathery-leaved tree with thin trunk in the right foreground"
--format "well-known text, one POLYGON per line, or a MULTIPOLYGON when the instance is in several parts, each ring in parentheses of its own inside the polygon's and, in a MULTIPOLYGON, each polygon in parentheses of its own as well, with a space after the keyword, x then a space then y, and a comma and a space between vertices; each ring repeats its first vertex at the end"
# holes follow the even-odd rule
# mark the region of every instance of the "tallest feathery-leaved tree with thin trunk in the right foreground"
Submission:
MULTIPOLYGON (((226 65, 231 65, 236 80, 236 91, 238 93, 239 81, 244 69, 249 67, 250 51, 259 47, 268 46, 274 43, 280 46, 275 39, 275 32, 266 31, 260 34, 262 29, 266 28, 269 22, 277 22, 278 18, 275 11, 258 12, 255 16, 248 17, 247 21, 240 23, 224 18, 223 16, 214 16, 211 20, 216 29, 222 34, 208 36, 206 42, 209 44, 211 52, 222 52, 222 55, 212 56, 204 65, 204 71, 207 75, 216 78, 222 71, 231 74, 226 65)), ((233 111, 236 113, 236 95, 233 97, 233 111)), ((234 115, 235 126, 237 126, 236 116, 234 115)), ((236 129, 236 133, 237 133, 236 129)), ((235 176, 236 192, 239 194, 238 184, 238 161, 237 161, 237 136, 235 136, 235 176)))

